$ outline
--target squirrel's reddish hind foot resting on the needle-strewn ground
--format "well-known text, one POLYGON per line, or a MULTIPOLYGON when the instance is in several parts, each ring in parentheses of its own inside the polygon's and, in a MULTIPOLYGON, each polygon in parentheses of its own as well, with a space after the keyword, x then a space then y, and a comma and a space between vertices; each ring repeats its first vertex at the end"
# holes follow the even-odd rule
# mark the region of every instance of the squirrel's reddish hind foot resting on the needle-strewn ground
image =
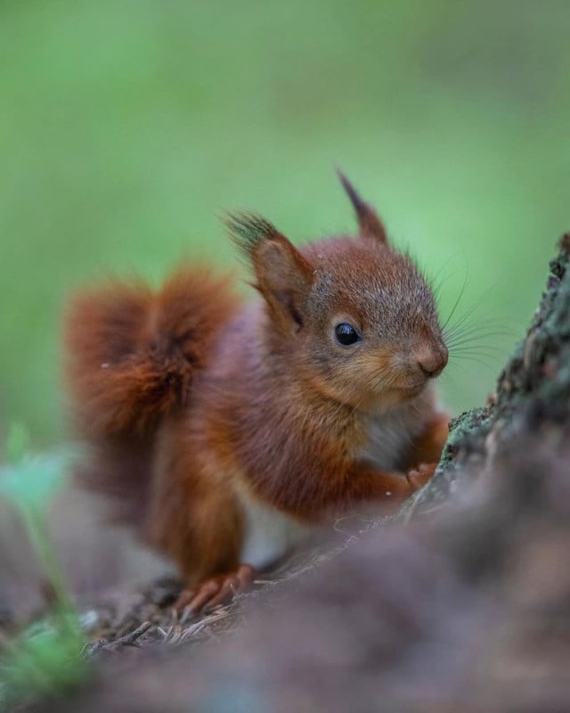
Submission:
POLYGON ((176 612, 184 614, 197 614, 212 611, 221 604, 232 601, 235 594, 244 592, 253 584, 256 570, 249 564, 240 564, 234 572, 216 575, 200 582, 198 586, 183 589, 175 602, 176 612))

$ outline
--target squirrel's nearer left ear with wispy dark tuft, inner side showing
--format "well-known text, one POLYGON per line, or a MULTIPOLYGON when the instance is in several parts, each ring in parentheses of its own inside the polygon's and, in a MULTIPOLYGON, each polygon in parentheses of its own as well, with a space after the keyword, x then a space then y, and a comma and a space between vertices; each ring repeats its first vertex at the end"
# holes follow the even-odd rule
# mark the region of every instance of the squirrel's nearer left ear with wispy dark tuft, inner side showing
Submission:
POLYGON ((314 267, 263 217, 232 213, 225 225, 253 264, 255 287, 264 296, 274 324, 285 334, 297 332, 305 324, 314 267))

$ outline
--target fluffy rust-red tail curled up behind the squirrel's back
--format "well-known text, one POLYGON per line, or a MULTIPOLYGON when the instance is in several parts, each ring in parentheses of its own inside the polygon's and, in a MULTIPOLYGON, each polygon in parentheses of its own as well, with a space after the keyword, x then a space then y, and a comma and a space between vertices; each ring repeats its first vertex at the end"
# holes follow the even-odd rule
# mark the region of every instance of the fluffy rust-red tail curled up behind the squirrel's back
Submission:
POLYGON ((91 488, 137 509, 159 422, 186 403, 194 374, 207 364, 234 308, 227 281, 195 266, 159 291, 115 282, 71 300, 65 375, 78 435, 94 447, 91 488))

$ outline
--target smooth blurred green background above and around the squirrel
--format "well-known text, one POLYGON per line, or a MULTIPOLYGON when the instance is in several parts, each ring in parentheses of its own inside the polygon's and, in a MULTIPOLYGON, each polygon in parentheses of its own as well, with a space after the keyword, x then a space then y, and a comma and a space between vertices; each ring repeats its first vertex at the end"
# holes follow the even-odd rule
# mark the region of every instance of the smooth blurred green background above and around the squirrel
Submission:
POLYGON ((352 228, 337 165, 498 325, 443 380, 481 404, 570 227, 568 37, 566 0, 0 0, 0 430, 64 438, 70 291, 234 265, 225 208, 352 228))

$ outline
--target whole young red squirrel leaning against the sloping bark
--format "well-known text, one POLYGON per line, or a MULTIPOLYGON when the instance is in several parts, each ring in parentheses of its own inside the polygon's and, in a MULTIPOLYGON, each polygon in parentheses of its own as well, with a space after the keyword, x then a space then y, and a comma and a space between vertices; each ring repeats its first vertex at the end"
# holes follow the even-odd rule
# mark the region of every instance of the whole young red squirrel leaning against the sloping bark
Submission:
POLYGON ((179 566, 190 611, 231 598, 358 504, 394 507, 447 437, 436 302, 345 176, 359 234, 297 249, 263 217, 226 225, 260 294, 187 265, 159 291, 72 299, 66 375, 83 473, 179 566))

